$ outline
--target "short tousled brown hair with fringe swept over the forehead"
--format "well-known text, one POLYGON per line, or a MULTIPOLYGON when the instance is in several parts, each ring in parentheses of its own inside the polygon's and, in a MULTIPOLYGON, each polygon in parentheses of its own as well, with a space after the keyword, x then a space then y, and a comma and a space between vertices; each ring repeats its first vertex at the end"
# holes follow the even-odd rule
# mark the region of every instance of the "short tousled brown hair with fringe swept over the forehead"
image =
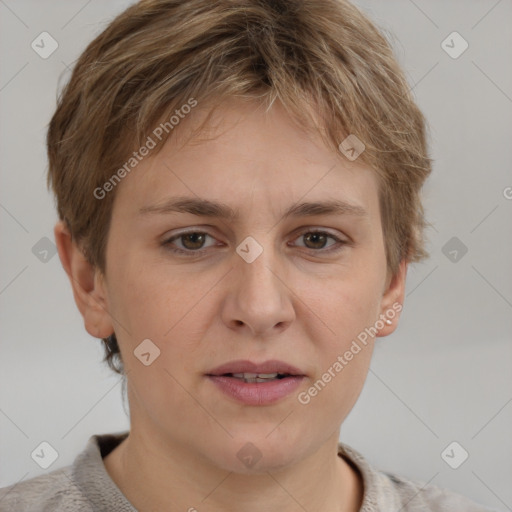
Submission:
MULTIPOLYGON (((333 150, 355 135, 379 179, 389 270, 427 256, 425 119, 363 13, 346 0, 142 0, 83 52, 48 131, 48 185, 91 264, 105 271, 115 197, 94 191, 191 98, 216 108, 235 96, 279 100, 333 150)), ((103 341, 123 373, 115 336, 103 341)))

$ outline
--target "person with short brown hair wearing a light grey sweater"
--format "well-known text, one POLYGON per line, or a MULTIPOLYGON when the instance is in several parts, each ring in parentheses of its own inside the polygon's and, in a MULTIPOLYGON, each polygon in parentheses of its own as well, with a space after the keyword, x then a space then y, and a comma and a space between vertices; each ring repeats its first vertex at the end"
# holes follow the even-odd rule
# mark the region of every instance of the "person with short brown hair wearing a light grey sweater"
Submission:
POLYGON ((16 510, 484 510, 339 444, 426 256, 423 115, 346 1, 148 0, 48 132, 55 237, 129 433, 16 510))

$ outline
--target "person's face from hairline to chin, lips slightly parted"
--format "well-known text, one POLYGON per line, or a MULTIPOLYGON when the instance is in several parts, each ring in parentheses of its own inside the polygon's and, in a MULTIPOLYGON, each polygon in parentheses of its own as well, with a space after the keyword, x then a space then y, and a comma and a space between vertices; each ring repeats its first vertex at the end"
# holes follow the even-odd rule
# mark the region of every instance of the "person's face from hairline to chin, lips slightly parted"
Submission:
POLYGON ((101 287, 132 431, 226 470, 249 471, 247 451, 275 469, 337 440, 368 370, 365 328, 403 282, 387 275, 370 169, 277 103, 214 119, 214 136, 169 140, 117 186, 101 287))

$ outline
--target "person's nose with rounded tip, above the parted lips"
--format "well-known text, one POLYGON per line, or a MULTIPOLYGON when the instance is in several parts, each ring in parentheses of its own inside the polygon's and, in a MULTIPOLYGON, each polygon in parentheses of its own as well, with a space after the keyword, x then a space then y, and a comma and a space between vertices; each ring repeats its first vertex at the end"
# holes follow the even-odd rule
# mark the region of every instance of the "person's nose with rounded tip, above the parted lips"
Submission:
POLYGON ((224 323, 253 337, 282 332, 295 318, 283 265, 267 248, 251 263, 238 255, 235 258, 222 310, 224 323))

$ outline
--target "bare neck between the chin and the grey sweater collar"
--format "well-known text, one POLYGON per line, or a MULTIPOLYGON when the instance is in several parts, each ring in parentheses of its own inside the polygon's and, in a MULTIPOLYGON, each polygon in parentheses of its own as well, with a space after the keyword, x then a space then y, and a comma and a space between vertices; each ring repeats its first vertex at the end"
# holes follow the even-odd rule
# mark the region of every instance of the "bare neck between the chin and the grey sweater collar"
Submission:
POLYGON ((104 459, 111 478, 139 512, 297 510, 357 512, 358 471, 337 455, 338 432, 315 453, 277 471, 240 474, 170 446, 158 436, 130 435, 104 459), (143 475, 143 477, 141 477, 143 475))

